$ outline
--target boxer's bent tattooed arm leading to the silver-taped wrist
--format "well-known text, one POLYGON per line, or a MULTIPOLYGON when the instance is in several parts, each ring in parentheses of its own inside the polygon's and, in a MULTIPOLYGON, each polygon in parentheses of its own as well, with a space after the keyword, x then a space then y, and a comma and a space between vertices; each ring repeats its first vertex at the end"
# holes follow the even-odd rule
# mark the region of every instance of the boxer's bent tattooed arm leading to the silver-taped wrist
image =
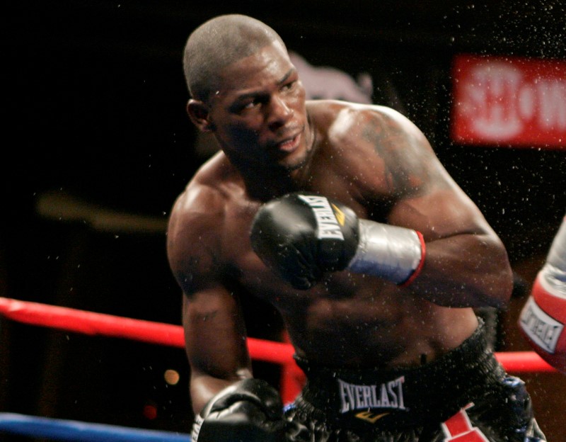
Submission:
POLYGON ((512 272, 501 240, 422 132, 402 118, 396 127, 396 147, 381 147, 393 177, 387 222, 424 237, 427 256, 414 290, 439 305, 504 305, 512 290, 512 272))

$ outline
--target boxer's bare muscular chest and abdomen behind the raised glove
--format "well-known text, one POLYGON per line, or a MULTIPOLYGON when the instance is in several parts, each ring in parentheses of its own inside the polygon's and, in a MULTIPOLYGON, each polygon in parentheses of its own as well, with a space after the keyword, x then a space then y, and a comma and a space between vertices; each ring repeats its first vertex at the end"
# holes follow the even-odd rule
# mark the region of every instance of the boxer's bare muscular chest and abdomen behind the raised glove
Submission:
MULTIPOLYGON (((388 222, 399 198, 394 181, 418 181, 418 173, 395 176, 380 159, 390 152, 364 157, 363 149, 347 145, 348 137, 363 134, 333 134, 335 111, 310 111, 317 145, 306 173, 296 178, 296 189, 291 190, 323 193, 349 205, 359 217, 388 222), (327 132, 328 137, 321 135, 327 132)), ((403 161, 403 155, 395 160, 403 161)), ((253 179, 244 180, 222 153, 201 175, 187 195, 198 194, 203 184, 207 192, 216 193, 216 202, 211 201, 215 221, 207 235, 214 244, 202 245, 214 254, 220 277, 229 279, 235 295, 257 297, 277 308, 299 356, 352 367, 415 365, 423 355, 430 361, 458 346, 477 326, 470 308, 434 305, 386 280, 347 271, 328 274, 310 290, 294 290, 250 247, 250 223, 265 202, 250 196, 258 190, 250 188, 253 179)))

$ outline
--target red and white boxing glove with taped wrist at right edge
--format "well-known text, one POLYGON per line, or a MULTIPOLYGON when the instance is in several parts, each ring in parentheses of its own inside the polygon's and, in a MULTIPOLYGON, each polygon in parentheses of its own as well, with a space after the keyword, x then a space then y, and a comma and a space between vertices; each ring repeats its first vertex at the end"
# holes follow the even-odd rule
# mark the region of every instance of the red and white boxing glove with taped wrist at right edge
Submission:
POLYGON ((519 329, 554 368, 566 373, 566 217, 519 316, 519 329))

